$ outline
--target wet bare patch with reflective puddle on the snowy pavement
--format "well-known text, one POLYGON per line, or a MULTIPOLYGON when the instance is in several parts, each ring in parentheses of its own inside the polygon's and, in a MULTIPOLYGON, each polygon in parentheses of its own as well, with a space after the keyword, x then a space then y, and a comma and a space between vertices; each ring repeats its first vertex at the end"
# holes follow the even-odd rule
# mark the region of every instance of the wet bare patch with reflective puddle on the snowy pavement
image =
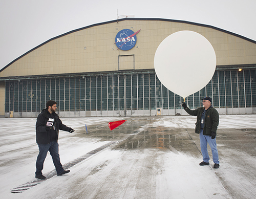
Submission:
POLYGON ((96 138, 99 141, 120 142, 115 149, 159 148, 185 151, 195 143, 184 128, 148 126, 158 118, 130 118, 125 123, 110 130, 108 123, 87 126, 80 129, 78 137, 96 138), (147 127, 148 126, 148 127, 147 127))

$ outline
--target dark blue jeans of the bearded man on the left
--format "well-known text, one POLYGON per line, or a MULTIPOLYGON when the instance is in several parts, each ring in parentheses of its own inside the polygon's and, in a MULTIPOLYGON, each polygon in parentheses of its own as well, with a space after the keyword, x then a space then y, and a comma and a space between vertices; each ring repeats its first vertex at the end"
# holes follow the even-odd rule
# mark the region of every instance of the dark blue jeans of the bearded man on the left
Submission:
POLYGON ((59 144, 56 141, 50 142, 50 144, 38 144, 39 154, 36 160, 36 172, 35 175, 42 175, 42 169, 44 168, 44 162, 47 156, 47 152, 50 151, 52 161, 57 171, 60 174, 64 169, 59 159, 59 144))

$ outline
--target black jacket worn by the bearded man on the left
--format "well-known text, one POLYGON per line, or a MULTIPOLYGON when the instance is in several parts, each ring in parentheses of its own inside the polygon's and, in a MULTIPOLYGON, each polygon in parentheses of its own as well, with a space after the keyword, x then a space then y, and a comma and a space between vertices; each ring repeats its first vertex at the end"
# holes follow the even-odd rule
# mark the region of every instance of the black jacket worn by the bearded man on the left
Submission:
MULTIPOLYGON (((36 120, 36 143, 38 144, 49 144, 51 141, 51 130, 46 130, 46 123, 49 120, 50 113, 47 109, 43 109, 42 112, 37 116, 36 120)), ((56 113, 52 114, 54 118, 54 125, 56 127, 56 141, 58 141, 59 130, 70 131, 70 127, 62 124, 59 116, 56 113)))

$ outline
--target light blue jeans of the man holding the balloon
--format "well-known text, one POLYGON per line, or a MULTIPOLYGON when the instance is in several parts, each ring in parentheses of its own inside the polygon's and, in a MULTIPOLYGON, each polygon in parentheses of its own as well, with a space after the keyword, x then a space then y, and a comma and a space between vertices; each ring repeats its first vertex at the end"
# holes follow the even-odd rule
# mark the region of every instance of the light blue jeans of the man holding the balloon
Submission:
POLYGON ((211 139, 210 136, 204 136, 203 129, 201 129, 201 131, 200 131, 200 146, 201 146, 201 151, 202 151, 204 162, 209 162, 209 160, 210 160, 208 150, 207 150, 207 143, 209 143, 209 145, 210 145, 211 152, 212 152, 212 159, 213 159, 214 163, 220 164, 219 153, 218 153, 217 144, 216 144, 216 138, 211 139))

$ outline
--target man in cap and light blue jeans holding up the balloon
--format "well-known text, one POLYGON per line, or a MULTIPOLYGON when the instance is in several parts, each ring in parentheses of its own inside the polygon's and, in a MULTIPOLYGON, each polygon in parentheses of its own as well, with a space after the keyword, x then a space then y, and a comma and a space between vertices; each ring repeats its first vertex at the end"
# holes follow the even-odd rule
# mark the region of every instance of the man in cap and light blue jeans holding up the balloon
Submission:
POLYGON ((219 125, 219 113, 212 107, 211 98, 205 97, 203 99, 203 107, 191 110, 186 103, 182 103, 185 111, 191 116, 197 116, 197 123, 195 132, 200 135, 200 146, 203 155, 203 162, 199 165, 209 165, 209 154, 207 144, 210 145, 212 152, 212 159, 214 161, 214 168, 220 167, 219 154, 216 144, 216 131, 219 125))

